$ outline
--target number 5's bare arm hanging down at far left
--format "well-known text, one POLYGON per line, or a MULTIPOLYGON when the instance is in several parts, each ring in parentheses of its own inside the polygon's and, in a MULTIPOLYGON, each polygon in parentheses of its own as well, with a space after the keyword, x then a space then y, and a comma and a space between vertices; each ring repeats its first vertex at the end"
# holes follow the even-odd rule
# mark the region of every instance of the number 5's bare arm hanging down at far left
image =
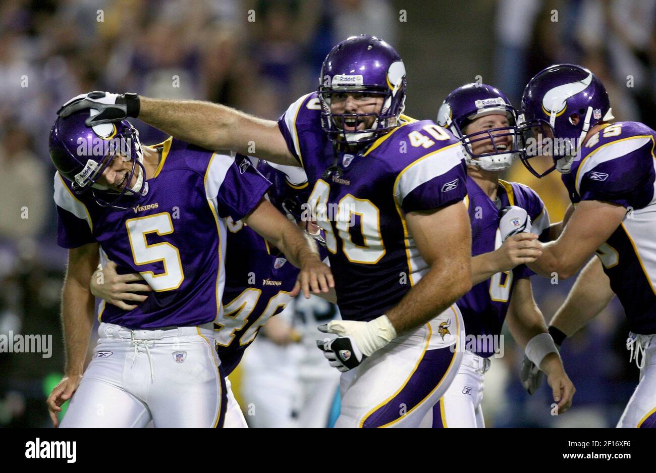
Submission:
POLYGON ((98 243, 89 243, 68 252, 68 269, 62 289, 66 367, 64 378, 54 387, 46 401, 55 427, 59 424, 57 413, 62 411, 60 406, 73 396, 84 371, 94 312, 94 297, 89 289, 89 279, 98 267, 98 259, 98 243))

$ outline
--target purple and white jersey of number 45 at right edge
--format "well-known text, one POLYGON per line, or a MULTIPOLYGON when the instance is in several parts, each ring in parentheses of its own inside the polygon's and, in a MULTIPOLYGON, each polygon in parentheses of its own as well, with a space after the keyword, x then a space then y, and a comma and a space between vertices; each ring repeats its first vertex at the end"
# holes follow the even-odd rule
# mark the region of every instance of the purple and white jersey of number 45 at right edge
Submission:
POLYGON ((627 209, 622 224, 596 255, 624 306, 632 332, 656 333, 656 132, 636 121, 604 125, 581 148, 562 179, 574 205, 614 202, 627 209))

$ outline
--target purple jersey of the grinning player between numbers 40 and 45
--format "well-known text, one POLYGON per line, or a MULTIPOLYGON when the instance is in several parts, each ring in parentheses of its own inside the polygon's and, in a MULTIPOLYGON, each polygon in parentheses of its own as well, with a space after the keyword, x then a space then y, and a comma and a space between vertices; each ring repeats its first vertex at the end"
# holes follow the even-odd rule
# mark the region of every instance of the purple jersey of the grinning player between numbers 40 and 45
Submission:
MULTIPOLYGON (((472 224, 472 256, 495 251, 502 244, 499 232, 500 210, 469 176, 467 176, 467 191, 465 203, 467 203, 472 224)), ((531 217, 532 232, 540 235, 541 239, 548 237, 549 216, 542 199, 535 191, 517 182, 499 180, 497 197, 501 201, 501 209, 508 205, 516 205, 525 209, 531 217)), ((487 281, 474 285, 457 302, 458 308, 462 312, 465 333, 483 337, 500 335, 506 312, 508 312, 510 297, 512 297, 514 282, 518 279, 528 278, 532 274, 534 273, 525 264, 520 264, 512 271, 497 273, 487 281)), ((472 351, 486 358, 493 355, 491 350, 472 351)))

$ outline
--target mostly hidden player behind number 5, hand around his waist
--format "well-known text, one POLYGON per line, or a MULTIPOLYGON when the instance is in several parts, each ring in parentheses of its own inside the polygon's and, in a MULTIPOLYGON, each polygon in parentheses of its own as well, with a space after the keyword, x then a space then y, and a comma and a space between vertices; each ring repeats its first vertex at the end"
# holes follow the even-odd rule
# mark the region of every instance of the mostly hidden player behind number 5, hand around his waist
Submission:
MULTIPOLYGON (((266 161, 259 161, 256 168, 272 182, 266 192, 266 199, 289 220, 298 222, 320 241, 318 228, 314 228, 312 222, 301 220, 302 205, 308 197, 308 181, 303 170, 298 167, 274 167, 266 161)), ((272 316, 283 312, 291 300, 290 294, 300 271, 289 264, 279 249, 268 243, 243 220, 235 221, 228 216, 226 224, 226 242, 230 251, 226 252, 225 257, 223 316, 215 321, 214 331, 216 352, 221 361, 221 372, 228 392, 224 427, 239 428, 247 424, 230 388, 228 376, 237 367, 244 350, 255 340, 260 328, 264 327, 272 316)), ((323 246, 319 245, 318 250, 320 258, 327 257, 323 246)), ((110 304, 132 310, 136 305, 127 306, 127 302, 145 300, 144 296, 134 292, 147 290, 149 287, 123 284, 136 281, 141 276, 138 273, 119 275, 115 266, 115 263, 108 262, 94 273, 91 278, 91 292, 110 304), (101 273, 102 277, 98 277, 101 273)), ((335 297, 334 291, 322 296, 333 300, 335 297)), ((279 383, 279 380, 276 382, 279 383)), ((264 410, 258 403, 256 414, 262 415, 264 410)))

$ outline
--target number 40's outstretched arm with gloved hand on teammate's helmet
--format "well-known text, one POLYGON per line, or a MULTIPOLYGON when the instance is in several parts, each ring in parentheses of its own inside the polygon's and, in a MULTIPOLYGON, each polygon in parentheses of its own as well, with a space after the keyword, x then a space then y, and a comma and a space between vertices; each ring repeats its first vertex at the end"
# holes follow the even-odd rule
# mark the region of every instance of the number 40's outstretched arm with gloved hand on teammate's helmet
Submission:
POLYGON ((208 150, 232 150, 281 165, 298 166, 276 121, 260 119, 234 108, 199 100, 161 100, 137 94, 92 92, 69 100, 58 114, 66 117, 86 108, 99 112, 89 117, 87 125, 138 117, 148 125, 208 150))

